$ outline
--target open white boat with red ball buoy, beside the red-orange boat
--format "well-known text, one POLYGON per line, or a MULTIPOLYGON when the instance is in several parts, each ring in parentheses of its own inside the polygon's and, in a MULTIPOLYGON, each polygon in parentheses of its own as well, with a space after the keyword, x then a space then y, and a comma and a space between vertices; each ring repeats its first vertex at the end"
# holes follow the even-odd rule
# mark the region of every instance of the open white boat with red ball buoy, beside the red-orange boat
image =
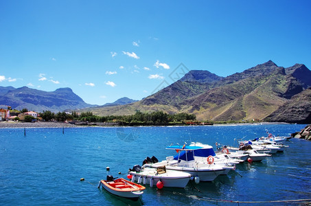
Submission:
POLYGON ((163 187, 181 187, 184 188, 189 179, 191 178, 191 174, 187 172, 180 172, 176 170, 166 170, 164 167, 159 168, 150 168, 148 164, 143 165, 141 168, 139 165, 135 165, 133 170, 128 172, 131 176, 131 181, 136 181, 139 184, 143 185, 157 185, 159 181, 163 184, 163 187))

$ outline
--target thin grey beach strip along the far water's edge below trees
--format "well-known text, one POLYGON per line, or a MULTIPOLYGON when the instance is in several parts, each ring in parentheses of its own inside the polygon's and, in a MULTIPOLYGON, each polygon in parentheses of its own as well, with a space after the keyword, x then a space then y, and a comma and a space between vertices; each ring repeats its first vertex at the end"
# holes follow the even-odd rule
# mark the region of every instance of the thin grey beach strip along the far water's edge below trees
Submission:
MULTIPOLYGON (((284 122, 262 122, 262 123, 237 123, 237 124, 214 124, 214 126, 235 126, 235 125, 254 125, 254 124, 288 124, 284 122)), ((0 122, 0 128, 84 128, 84 127, 111 127, 118 124, 96 122, 96 125, 76 125, 67 122, 0 122)), ((144 125, 154 126, 154 125, 144 125)), ((174 126, 174 125, 161 125, 174 126)), ((189 126, 189 125, 186 125, 189 126)), ((205 125, 210 126, 210 125, 205 125)))

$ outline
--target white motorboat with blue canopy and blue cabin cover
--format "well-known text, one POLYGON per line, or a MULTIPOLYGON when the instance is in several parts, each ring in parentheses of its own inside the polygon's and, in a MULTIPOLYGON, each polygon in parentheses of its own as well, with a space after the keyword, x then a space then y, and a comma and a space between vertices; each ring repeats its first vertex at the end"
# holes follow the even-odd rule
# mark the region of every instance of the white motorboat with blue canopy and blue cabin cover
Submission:
MULTIPOLYGON (((146 166, 151 168, 158 168, 165 166, 166 170, 176 170, 187 172, 195 179, 200 181, 214 181, 220 174, 224 174, 225 168, 220 165, 209 163, 199 163, 194 159, 194 150, 201 149, 198 146, 169 146, 167 149, 176 150, 178 152, 174 157, 166 157, 166 160, 157 163, 148 163, 146 166), (198 178, 197 178, 198 177, 198 178)), ((214 159, 214 158, 212 158, 214 159)))

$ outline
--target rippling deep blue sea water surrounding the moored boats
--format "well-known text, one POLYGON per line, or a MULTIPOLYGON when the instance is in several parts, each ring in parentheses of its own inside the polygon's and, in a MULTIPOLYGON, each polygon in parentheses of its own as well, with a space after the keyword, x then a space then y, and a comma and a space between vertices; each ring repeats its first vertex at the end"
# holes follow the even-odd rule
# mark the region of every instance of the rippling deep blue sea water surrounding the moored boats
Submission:
MULTIPOLYGON (((236 146, 235 139, 288 136, 306 125, 0 129, 0 205, 238 205, 225 201, 311 198, 311 141, 291 139, 285 152, 242 163, 227 176, 185 189, 146 186, 141 202, 97 189, 107 174, 126 178, 147 156, 174 155, 170 144, 199 141, 236 146), (110 167, 110 172, 106 167, 110 167), (118 174, 122 172, 122 174, 118 174), (84 178, 85 181, 80 181, 84 178)), ((302 202, 303 203, 303 202, 302 202)), ((256 205, 296 205, 258 203, 256 205)), ((242 205, 242 203, 240 203, 242 205)), ((244 203, 243 205, 248 205, 244 203)))

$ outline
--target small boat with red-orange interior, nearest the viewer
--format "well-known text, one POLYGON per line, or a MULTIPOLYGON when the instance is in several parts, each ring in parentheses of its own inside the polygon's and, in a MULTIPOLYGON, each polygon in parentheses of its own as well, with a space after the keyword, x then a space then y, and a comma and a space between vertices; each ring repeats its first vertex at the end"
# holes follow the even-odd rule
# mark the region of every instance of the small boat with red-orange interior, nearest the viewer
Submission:
POLYGON ((98 188, 100 188, 100 186, 111 194, 133 201, 137 201, 139 196, 143 194, 143 190, 146 189, 146 187, 137 183, 132 183, 123 178, 114 179, 113 176, 110 175, 107 176, 106 181, 101 180, 100 183, 98 183, 98 188))

